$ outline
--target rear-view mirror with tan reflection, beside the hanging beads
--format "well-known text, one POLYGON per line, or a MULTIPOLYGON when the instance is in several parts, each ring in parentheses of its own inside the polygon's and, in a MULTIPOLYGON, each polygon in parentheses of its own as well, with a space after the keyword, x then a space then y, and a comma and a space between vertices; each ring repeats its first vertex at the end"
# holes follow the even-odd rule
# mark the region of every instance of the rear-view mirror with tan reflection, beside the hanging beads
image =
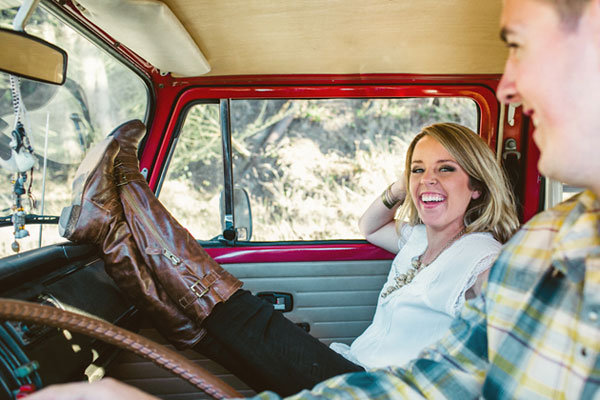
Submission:
POLYGON ((67 53, 25 32, 0 28, 0 71, 39 82, 62 85, 67 53))

